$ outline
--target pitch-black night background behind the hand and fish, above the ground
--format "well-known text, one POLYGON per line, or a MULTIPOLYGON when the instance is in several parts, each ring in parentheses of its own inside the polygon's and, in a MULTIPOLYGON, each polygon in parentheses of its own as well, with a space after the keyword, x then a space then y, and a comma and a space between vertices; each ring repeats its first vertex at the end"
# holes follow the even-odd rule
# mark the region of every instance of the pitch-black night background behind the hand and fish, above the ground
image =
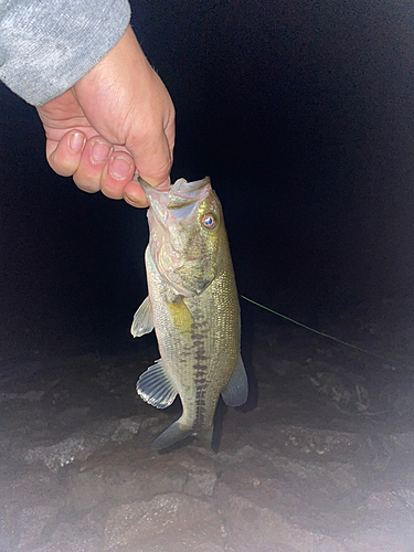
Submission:
MULTIPOLYGON (((362 307, 410 316, 412 3, 144 0, 132 13, 177 108, 172 178, 211 176, 240 291, 316 326, 362 307)), ((0 94, 1 329, 18 348, 41 328, 44 347, 70 335, 116 351, 146 296, 146 213, 55 176, 34 108, 0 94)))

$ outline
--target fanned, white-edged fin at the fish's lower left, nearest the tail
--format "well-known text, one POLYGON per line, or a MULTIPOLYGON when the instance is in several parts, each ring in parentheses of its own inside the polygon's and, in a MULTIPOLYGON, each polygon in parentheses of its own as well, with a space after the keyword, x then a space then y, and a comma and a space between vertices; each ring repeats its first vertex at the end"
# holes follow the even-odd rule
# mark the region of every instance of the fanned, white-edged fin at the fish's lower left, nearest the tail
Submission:
POLYGON ((139 378, 137 393, 144 401, 157 408, 167 408, 173 403, 177 391, 163 370, 162 359, 157 360, 139 378))

